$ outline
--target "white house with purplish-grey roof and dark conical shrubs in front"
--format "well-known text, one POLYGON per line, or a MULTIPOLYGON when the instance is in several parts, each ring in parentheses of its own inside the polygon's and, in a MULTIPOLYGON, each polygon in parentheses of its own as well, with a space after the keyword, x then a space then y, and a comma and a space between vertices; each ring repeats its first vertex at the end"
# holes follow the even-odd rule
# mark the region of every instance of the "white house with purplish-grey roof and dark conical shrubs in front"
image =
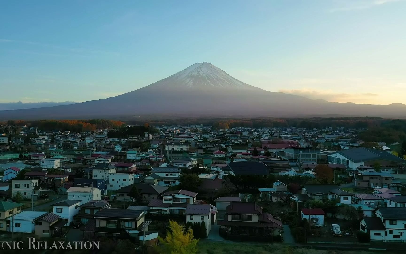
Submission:
MULTIPOLYGON (((188 204, 186 206, 186 222, 202 223, 206 226, 206 236, 212 229, 212 206, 209 204, 188 204)), ((216 215, 216 213, 214 213, 216 215)), ((214 219, 216 221, 216 219, 214 219)))

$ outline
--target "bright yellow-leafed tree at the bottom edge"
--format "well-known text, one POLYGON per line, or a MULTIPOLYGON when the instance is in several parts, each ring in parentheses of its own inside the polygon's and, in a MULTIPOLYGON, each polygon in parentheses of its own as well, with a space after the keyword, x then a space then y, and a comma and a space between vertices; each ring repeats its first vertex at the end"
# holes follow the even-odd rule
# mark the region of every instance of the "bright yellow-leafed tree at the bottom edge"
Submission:
POLYGON ((196 254, 197 242, 193 239, 193 230, 185 230, 183 225, 179 225, 176 221, 169 221, 169 230, 166 232, 166 237, 158 237, 159 242, 163 245, 163 252, 171 254, 196 254))

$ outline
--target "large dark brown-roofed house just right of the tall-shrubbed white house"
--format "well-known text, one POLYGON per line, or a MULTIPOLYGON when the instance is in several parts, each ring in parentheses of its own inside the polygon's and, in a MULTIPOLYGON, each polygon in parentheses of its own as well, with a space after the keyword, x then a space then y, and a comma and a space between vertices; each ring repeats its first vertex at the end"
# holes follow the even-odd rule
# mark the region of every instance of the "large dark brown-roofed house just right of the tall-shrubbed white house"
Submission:
POLYGON ((218 220, 220 236, 228 239, 258 240, 272 239, 280 235, 282 221, 255 202, 231 202, 225 211, 224 220, 218 220))

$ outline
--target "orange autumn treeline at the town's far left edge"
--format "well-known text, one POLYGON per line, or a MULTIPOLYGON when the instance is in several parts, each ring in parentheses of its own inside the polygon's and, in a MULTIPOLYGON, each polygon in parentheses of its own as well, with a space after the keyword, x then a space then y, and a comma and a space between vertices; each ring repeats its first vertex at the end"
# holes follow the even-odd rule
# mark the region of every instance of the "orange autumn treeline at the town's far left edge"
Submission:
POLYGON ((38 130, 70 130, 71 132, 92 131, 96 129, 111 129, 118 128, 125 124, 121 121, 113 121, 106 119, 92 119, 92 120, 38 120, 38 121, 24 121, 24 120, 10 120, 7 125, 16 125, 27 127, 37 127, 38 130))

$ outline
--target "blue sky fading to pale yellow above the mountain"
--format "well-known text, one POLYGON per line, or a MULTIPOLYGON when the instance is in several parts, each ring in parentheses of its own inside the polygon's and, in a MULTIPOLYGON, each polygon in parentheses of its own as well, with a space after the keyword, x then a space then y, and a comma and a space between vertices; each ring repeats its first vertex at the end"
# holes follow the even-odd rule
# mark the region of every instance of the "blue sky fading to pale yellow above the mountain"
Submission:
POLYGON ((87 101, 198 62, 328 101, 406 104, 406 1, 7 1, 0 103, 87 101))

